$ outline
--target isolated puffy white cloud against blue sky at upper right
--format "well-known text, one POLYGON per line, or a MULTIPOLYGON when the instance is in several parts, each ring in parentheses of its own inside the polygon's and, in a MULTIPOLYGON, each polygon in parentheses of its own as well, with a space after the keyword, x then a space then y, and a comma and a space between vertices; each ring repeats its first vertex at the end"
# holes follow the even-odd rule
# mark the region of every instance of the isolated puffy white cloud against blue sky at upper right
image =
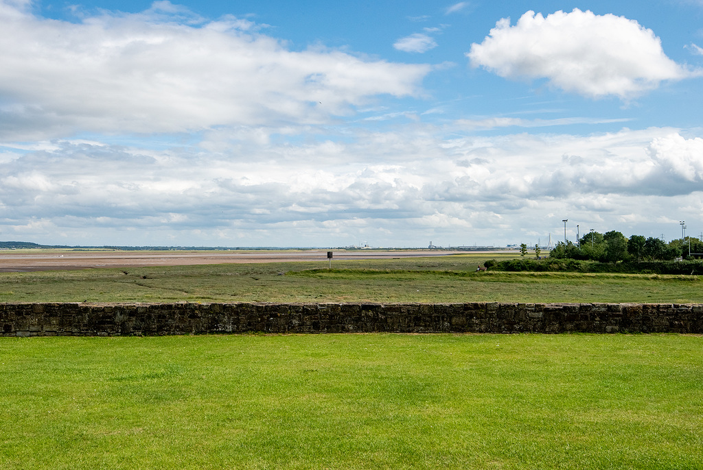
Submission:
POLYGON ((528 11, 515 26, 503 18, 466 53, 474 67, 510 79, 547 79, 589 98, 628 99, 664 80, 689 76, 666 57, 651 29, 616 15, 574 9, 545 18, 528 11))

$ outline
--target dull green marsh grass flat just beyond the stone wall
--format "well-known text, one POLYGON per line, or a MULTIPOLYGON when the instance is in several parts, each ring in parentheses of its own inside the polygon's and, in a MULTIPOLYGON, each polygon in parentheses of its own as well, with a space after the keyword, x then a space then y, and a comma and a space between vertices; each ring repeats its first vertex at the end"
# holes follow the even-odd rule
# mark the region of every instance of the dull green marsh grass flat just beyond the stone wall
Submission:
POLYGON ((515 255, 0 273, 0 302, 703 302, 699 276, 475 272, 489 257, 515 255))

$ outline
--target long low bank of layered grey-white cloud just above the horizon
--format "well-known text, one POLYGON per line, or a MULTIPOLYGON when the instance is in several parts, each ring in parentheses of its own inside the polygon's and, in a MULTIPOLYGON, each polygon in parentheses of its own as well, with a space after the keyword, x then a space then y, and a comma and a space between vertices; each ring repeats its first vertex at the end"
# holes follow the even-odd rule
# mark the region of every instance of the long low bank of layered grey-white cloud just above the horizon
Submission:
POLYGON ((628 227, 647 234, 652 217, 703 194, 703 139, 673 128, 581 137, 437 131, 243 142, 215 153, 56 141, 0 158, 3 233, 52 243, 158 244, 176 236, 228 246, 453 233, 455 243, 469 243, 502 224, 506 241, 515 227, 546 238, 563 218, 548 214, 568 209, 596 229, 641 220, 628 227), (442 232, 447 227, 455 228, 442 232))

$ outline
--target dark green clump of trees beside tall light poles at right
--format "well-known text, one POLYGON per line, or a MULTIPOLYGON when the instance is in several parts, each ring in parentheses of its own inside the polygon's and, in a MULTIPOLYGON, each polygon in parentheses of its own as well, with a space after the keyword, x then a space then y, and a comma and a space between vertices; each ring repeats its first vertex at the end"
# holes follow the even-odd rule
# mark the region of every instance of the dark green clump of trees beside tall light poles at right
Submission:
POLYGON ((621 232, 611 230, 605 234, 591 231, 584 234, 578 243, 560 241, 550 251, 549 257, 599 262, 668 261, 677 257, 702 257, 694 253, 703 253, 703 241, 688 236, 669 243, 651 236, 645 239, 642 235, 633 235, 628 239, 621 232))

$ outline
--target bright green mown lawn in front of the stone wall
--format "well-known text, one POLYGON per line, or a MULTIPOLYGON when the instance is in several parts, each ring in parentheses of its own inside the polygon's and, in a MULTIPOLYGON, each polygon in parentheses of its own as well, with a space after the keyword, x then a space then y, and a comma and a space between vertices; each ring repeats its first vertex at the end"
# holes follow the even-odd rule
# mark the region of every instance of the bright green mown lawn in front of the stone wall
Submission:
POLYGON ((0 340, 3 469, 703 469, 703 337, 0 340))

